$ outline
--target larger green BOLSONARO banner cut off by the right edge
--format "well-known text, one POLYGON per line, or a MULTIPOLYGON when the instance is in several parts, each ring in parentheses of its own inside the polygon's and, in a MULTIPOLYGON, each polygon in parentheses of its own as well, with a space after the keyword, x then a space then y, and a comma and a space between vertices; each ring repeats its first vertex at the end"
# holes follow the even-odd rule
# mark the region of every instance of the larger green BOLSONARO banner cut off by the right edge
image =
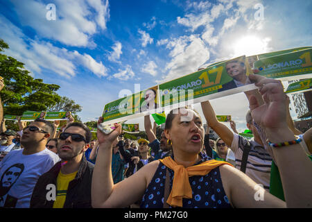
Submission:
POLYGON ((271 56, 254 62, 259 75, 268 78, 295 80, 312 77, 312 48, 271 56))

